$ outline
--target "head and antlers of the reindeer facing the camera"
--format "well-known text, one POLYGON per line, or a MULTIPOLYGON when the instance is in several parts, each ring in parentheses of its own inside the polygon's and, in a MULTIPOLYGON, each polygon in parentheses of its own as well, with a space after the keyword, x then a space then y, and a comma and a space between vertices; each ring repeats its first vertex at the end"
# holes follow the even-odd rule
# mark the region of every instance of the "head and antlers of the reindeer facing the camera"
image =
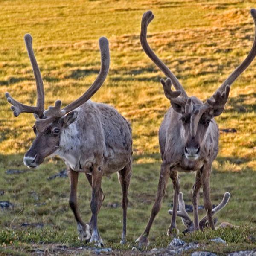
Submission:
MULTIPOLYGON (((256 25, 256 9, 251 9, 250 12, 256 25)), ((151 11, 144 13, 141 21, 140 42, 148 57, 167 76, 166 81, 161 79, 160 82, 163 85, 166 98, 170 100, 173 110, 179 113, 180 122, 183 123, 183 134, 186 141, 183 149, 184 154, 187 159, 196 160, 200 156, 200 149, 212 118, 219 116, 224 110, 230 92, 230 85, 250 65, 256 55, 256 37, 247 58, 230 74, 218 90, 206 102, 202 103, 196 97, 189 97, 186 94, 177 77, 148 45, 147 27, 153 19, 154 15, 151 11), (172 84, 176 91, 171 89, 172 84)))

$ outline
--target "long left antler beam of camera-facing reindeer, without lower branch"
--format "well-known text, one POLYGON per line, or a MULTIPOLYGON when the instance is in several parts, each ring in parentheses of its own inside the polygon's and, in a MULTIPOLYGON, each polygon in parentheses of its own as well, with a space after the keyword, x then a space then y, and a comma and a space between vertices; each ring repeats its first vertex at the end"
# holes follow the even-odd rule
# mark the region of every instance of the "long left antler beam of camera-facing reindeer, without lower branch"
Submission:
POLYGON ((186 91, 178 81, 177 77, 172 73, 171 70, 161 61, 157 55, 153 52, 153 50, 150 48, 148 41, 147 41, 147 28, 148 24, 151 22, 151 20, 154 19, 154 15, 151 11, 145 12, 143 14, 142 20, 141 20, 141 32, 140 32, 140 43, 143 47, 144 52, 148 55, 149 58, 157 65, 157 67, 160 68, 160 70, 163 71, 163 73, 169 77, 172 80, 172 84, 174 85, 176 90, 180 90, 183 97, 186 99, 188 98, 186 91))

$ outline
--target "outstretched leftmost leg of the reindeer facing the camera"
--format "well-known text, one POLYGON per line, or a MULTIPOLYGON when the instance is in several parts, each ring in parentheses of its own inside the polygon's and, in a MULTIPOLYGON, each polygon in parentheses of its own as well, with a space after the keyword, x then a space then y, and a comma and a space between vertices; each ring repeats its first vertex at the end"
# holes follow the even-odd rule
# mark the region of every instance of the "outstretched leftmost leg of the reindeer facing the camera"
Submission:
POLYGON ((160 211, 161 204, 163 201, 163 196, 165 195, 165 192, 166 192, 166 187, 167 187, 169 176, 170 176, 169 165, 167 165, 166 163, 162 163, 159 182, 158 182, 158 188, 157 188, 157 197, 154 201, 150 219, 148 221, 147 227, 145 228, 145 231, 136 240, 136 243, 137 242, 139 243, 138 244, 139 248, 142 246, 147 247, 149 244, 148 235, 149 235, 151 226, 153 224, 154 218, 156 217, 157 213, 160 211))

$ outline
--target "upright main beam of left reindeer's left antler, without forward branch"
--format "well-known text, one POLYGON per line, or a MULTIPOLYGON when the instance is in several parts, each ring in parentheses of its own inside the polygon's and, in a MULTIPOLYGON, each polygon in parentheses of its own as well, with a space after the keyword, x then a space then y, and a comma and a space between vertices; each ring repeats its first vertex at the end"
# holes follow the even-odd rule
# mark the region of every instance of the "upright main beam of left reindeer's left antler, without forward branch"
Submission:
POLYGON ((43 116, 44 113, 44 83, 43 79, 41 77, 41 72, 39 70, 37 61, 35 59, 35 54, 32 48, 32 36, 29 34, 26 34, 24 36, 24 41, 26 44, 26 49, 29 55, 29 59, 32 65, 32 69, 35 76, 35 83, 36 83, 36 89, 37 89, 37 107, 38 110, 41 112, 41 115, 39 117, 43 116))

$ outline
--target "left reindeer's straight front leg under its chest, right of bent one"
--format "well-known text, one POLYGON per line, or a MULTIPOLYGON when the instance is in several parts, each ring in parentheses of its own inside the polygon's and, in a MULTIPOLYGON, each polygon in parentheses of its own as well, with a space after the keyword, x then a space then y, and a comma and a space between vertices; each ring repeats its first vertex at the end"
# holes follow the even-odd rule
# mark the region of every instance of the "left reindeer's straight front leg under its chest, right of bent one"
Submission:
POLYGON ((104 245, 98 230, 98 212, 103 201, 101 180, 102 180, 101 167, 100 166, 93 167, 92 198, 90 202, 90 208, 92 211, 92 236, 90 238, 90 243, 95 243, 99 247, 104 245))

